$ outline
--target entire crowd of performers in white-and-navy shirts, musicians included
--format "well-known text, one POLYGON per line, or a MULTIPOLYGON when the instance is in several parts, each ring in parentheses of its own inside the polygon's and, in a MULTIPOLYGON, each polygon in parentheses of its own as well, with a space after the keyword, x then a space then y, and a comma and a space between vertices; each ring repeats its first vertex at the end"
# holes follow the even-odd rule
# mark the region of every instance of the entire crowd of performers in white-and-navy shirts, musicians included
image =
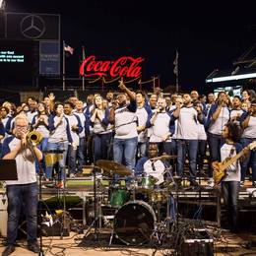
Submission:
MULTIPOLYGON (((15 159, 18 166, 18 180, 6 182, 10 246, 5 255, 14 250, 21 200, 30 209, 29 245, 32 250, 36 247, 36 213, 32 205, 37 202, 38 163, 31 160, 32 150, 27 142, 32 130, 43 137, 33 148, 46 181, 53 178, 53 166, 45 164, 44 155, 63 153, 59 160, 59 187, 63 186, 65 175, 81 176, 83 166, 96 164, 97 160, 123 164, 134 175, 156 171, 161 174, 164 166, 160 160, 152 161, 150 157, 157 155, 176 156, 170 163, 175 165, 172 174, 179 177, 185 175, 184 165, 188 162, 190 185, 197 186, 198 173, 204 173, 209 177, 209 186, 213 186, 214 165, 211 163, 236 155, 256 140, 254 91, 245 90, 241 96, 228 96, 225 92, 204 96, 197 91, 163 95, 159 88, 152 94, 132 92, 122 82, 118 88, 120 93, 116 95, 108 92, 106 96, 71 96, 65 101, 56 101, 50 94, 42 101, 30 97, 19 106, 8 101, 2 104, 1 158, 15 159), (207 149, 209 167, 204 168, 207 149)), ((248 151, 246 157, 229 166, 229 170, 222 186, 235 226, 239 187, 244 185, 247 175, 251 176, 252 186, 256 186, 256 152, 248 151)))

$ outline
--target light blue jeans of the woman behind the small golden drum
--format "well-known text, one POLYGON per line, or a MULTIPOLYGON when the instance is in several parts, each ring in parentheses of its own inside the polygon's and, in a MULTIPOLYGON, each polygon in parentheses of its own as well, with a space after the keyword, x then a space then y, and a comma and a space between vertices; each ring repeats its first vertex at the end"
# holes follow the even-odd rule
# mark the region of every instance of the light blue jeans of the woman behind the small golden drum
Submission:
MULTIPOLYGON (((66 158, 68 154, 68 142, 59 142, 59 143, 51 143, 48 142, 47 151, 57 151, 57 150, 64 150, 62 154, 63 158, 58 161, 59 164, 59 179, 64 179, 65 175, 65 165, 66 165, 66 158)), ((48 166, 45 169, 46 178, 52 178, 52 170, 53 166, 48 166)))

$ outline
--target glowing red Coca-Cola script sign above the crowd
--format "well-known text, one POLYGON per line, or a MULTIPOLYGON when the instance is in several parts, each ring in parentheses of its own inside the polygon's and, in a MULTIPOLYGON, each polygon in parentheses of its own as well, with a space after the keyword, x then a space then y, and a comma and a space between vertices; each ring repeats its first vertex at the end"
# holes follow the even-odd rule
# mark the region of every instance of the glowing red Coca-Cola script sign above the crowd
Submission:
POLYGON ((143 58, 133 58, 123 56, 119 59, 112 60, 96 60, 96 56, 86 58, 80 66, 79 73, 84 77, 127 77, 137 78, 141 75, 142 67, 140 64, 143 58))

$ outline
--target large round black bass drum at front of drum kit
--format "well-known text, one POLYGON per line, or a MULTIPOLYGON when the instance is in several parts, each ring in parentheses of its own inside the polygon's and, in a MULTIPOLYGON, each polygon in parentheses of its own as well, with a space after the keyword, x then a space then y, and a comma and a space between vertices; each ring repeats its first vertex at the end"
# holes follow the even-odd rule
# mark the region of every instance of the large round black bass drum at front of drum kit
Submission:
POLYGON ((150 241, 156 222, 155 212, 149 204, 131 201, 116 212, 114 233, 127 245, 142 245, 150 241))

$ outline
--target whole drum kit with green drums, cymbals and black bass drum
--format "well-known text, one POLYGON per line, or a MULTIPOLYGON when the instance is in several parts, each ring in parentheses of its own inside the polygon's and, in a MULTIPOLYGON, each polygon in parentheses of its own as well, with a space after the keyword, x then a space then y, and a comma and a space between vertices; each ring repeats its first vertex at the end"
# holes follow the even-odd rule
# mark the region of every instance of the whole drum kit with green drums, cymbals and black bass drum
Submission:
MULTIPOLYGON (((164 156, 164 158, 174 157, 164 156)), ((162 160, 161 157, 159 159, 162 160)), ((160 223, 168 223, 166 228, 169 228, 169 224, 176 219, 175 216, 171 216, 174 212, 170 211, 171 207, 175 208, 171 194, 173 183, 171 167, 165 168, 164 172, 168 175, 165 175, 164 183, 160 185, 156 185, 158 178, 147 174, 135 176, 129 168, 112 160, 97 160, 95 171, 96 169, 100 169, 101 174, 108 176, 111 182, 105 204, 101 200, 98 201, 101 193, 97 196, 96 190, 100 188, 96 186, 95 222, 92 225, 98 232, 101 228, 99 219, 104 218, 101 208, 107 205, 113 209, 112 235, 109 245, 113 236, 127 245, 151 242, 153 236, 158 233, 160 223)), ((100 184, 97 181, 95 183, 100 184)))

